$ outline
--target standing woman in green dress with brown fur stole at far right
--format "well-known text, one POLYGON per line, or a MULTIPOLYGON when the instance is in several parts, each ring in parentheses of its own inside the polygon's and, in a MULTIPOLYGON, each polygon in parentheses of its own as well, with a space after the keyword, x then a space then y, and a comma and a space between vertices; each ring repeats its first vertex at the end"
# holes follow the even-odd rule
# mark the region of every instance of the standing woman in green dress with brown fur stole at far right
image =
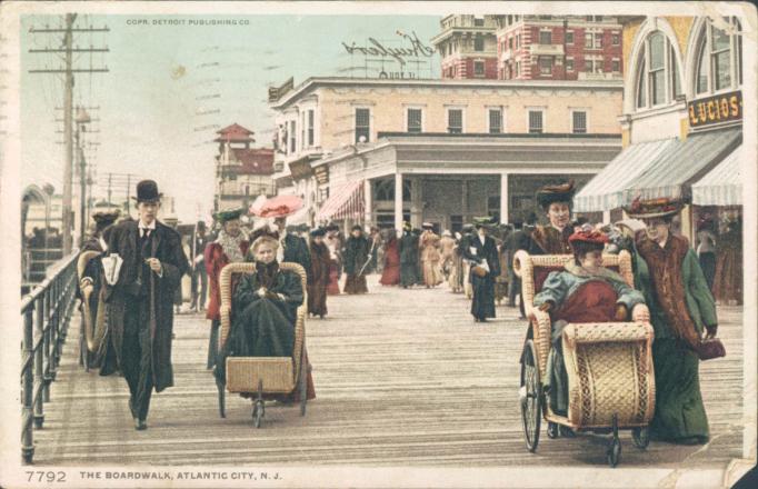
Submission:
POLYGON ((656 439, 685 445, 708 441, 708 418, 698 379, 699 353, 718 328, 716 303, 695 251, 686 238, 671 233, 678 200, 636 199, 625 210, 645 221, 635 239, 635 286, 650 308, 655 330, 652 363, 656 412, 650 423, 656 439))

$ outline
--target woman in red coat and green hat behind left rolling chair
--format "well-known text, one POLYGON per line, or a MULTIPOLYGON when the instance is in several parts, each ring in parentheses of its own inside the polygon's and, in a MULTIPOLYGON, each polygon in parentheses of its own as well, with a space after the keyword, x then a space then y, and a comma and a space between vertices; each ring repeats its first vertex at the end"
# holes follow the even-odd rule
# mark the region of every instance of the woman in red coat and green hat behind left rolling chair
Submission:
POLYGON ((208 282, 210 285, 210 303, 208 305, 208 312, 206 315, 206 318, 211 320, 207 366, 209 370, 216 366, 218 352, 219 326, 221 323, 219 315, 219 308, 221 307, 221 290, 219 289, 221 269, 223 269, 227 263, 245 261, 245 256, 250 246, 250 241, 242 231, 239 222, 242 211, 242 209, 227 210, 218 212, 215 216, 216 220, 221 223, 222 229, 219 232, 218 239, 212 243, 209 243, 203 253, 206 271, 208 272, 208 282))

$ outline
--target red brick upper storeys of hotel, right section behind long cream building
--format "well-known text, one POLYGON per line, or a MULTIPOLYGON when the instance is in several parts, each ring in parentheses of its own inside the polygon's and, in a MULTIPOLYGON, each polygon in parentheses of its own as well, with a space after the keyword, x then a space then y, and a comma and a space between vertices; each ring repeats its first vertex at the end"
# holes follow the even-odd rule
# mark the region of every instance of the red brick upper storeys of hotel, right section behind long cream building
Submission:
POLYGON ((493 16, 498 79, 621 80, 621 24, 609 16, 493 16))

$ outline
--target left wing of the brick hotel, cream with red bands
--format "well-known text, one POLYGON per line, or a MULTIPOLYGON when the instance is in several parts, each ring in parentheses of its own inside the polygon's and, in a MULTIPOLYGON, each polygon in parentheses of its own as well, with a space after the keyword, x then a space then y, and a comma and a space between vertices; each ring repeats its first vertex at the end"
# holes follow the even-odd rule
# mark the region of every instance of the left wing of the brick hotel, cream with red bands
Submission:
POLYGON ((498 78, 495 16, 447 16, 441 32, 431 39, 441 57, 445 80, 498 78))

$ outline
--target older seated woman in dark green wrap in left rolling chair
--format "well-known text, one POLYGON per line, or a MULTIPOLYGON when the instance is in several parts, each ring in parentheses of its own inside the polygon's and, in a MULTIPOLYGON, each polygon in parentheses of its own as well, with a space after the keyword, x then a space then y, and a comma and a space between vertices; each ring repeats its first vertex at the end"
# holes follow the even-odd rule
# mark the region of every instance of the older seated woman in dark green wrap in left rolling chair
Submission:
MULTIPOLYGON (((256 272, 245 276, 232 298, 231 331, 216 369, 223 376, 227 357, 289 357, 295 346, 298 307, 303 301, 300 277, 279 269, 279 242, 261 236, 252 243, 256 272)), ((248 259, 250 255, 248 253, 248 259)))

